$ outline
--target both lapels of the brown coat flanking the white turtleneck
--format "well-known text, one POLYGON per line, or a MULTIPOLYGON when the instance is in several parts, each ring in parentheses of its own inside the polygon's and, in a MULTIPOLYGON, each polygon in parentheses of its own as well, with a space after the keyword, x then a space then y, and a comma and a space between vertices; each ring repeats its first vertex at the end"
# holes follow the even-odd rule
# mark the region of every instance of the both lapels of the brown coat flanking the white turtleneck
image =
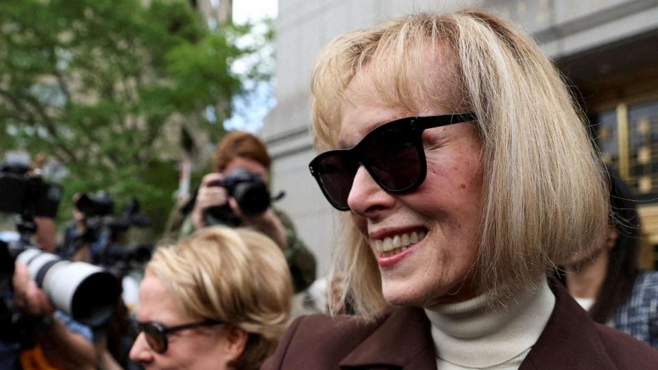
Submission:
MULTIPOLYGON (((520 370, 616 369, 596 324, 559 282, 549 282, 555 308, 520 370)), ((430 321, 422 308, 395 308, 378 328, 339 363, 341 369, 435 369, 430 321)))

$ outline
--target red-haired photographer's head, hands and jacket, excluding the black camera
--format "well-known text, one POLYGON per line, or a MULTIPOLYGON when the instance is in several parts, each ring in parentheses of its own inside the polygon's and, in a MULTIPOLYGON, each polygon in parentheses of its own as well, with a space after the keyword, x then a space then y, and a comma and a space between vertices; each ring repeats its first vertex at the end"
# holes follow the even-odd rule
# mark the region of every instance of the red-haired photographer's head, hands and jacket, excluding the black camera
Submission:
MULTIPOLYGON (((220 222, 229 226, 239 224, 243 227, 251 227, 274 240, 280 247, 293 276, 295 293, 304 291, 315 280, 315 256, 297 236, 290 218, 272 206, 257 217, 246 217, 235 199, 228 195, 226 188, 216 185, 236 169, 246 169, 258 175, 267 184, 271 158, 265 144, 247 132, 229 132, 219 143, 213 162, 215 171, 204 176, 196 197, 193 197, 194 200, 189 204, 191 210, 190 207, 181 210, 182 213, 190 213, 182 221, 179 237, 220 222), (219 208, 221 214, 231 219, 230 222, 208 217, 212 208, 219 208)), ((171 234, 171 231, 168 234, 171 234)))

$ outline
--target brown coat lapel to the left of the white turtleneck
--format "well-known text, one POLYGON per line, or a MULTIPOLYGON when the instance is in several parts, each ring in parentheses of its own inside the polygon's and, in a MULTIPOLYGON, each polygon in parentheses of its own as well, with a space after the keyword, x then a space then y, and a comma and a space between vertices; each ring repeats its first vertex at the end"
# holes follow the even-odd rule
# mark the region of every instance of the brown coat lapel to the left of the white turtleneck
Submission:
POLYGON ((430 321, 421 308, 395 308, 339 363, 341 369, 435 369, 430 321))

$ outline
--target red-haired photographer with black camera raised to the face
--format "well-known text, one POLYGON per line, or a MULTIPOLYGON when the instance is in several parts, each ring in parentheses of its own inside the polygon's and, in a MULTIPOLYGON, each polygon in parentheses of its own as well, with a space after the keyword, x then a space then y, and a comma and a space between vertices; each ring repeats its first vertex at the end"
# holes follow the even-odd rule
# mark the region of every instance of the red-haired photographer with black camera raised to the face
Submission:
POLYGON ((295 293, 315 280, 315 257, 297 237, 289 217, 270 204, 267 182, 271 158, 265 144, 247 132, 229 132, 215 151, 215 172, 204 176, 179 236, 211 225, 252 227, 283 251, 295 293))

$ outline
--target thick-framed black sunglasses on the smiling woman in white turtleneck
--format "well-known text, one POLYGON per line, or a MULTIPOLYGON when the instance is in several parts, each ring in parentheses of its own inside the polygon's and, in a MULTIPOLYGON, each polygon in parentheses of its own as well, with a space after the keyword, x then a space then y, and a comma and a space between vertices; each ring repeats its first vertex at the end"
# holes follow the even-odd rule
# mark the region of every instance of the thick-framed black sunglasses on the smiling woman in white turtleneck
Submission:
POLYGON ((320 153, 308 164, 310 174, 338 210, 350 210, 348 196, 361 164, 387 192, 409 191, 422 184, 427 173, 423 131, 476 119, 475 113, 467 112, 391 121, 376 127, 350 149, 320 153))

